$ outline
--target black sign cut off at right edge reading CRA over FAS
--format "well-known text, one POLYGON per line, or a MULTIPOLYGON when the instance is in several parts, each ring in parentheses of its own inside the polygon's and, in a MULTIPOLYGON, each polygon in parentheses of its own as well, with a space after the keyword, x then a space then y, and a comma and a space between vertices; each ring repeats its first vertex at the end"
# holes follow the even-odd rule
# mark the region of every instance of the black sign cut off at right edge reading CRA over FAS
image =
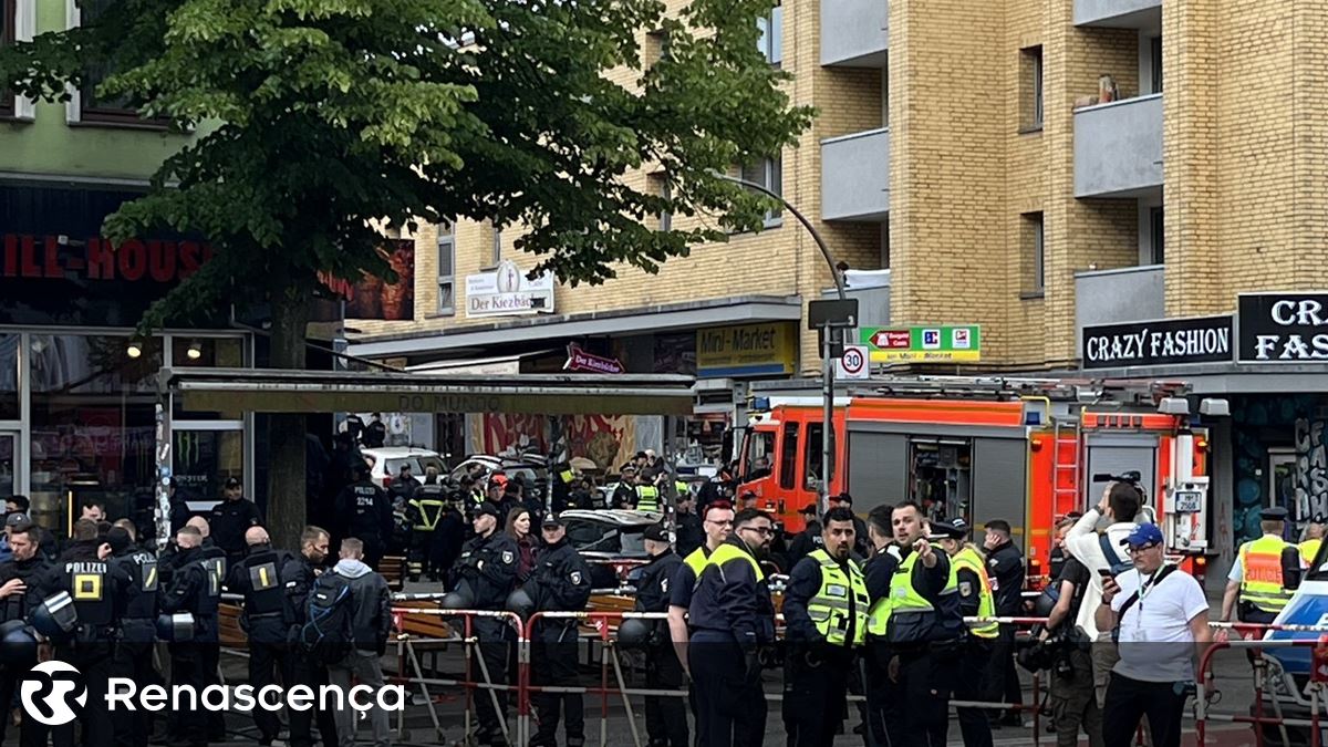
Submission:
POLYGON ((1240 294, 1239 363, 1328 360, 1328 294, 1240 294))

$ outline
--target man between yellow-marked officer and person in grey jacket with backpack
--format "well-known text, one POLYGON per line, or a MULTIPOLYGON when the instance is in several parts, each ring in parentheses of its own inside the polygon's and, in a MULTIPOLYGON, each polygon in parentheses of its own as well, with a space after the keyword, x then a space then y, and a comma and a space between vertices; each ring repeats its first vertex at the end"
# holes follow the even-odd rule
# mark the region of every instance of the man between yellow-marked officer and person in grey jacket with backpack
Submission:
MULTIPOLYGON (((292 638, 307 622, 307 602, 313 581, 323 570, 323 561, 331 552, 332 536, 319 526, 305 526, 300 533, 300 554, 291 562, 282 566, 282 589, 286 593, 286 605, 291 610, 291 625, 295 629, 292 638)), ((309 657, 291 655, 286 659, 286 682, 290 685, 303 685, 315 693, 328 683, 328 671, 320 667, 309 657)), ((288 686, 290 686, 288 685, 288 686)), ((319 734, 323 744, 337 744, 336 720, 332 711, 317 708, 319 734)), ((311 710, 291 708, 291 747, 313 747, 313 734, 311 723, 313 712, 311 710)))

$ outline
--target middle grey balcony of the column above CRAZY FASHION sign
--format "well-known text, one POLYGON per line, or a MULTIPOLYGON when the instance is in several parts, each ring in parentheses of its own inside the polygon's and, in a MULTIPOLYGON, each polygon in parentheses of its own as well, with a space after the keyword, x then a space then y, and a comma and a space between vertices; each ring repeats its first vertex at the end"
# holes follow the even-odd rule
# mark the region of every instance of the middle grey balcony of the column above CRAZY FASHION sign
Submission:
POLYGON ((1161 186, 1161 93, 1074 110, 1074 197, 1139 197, 1161 186))

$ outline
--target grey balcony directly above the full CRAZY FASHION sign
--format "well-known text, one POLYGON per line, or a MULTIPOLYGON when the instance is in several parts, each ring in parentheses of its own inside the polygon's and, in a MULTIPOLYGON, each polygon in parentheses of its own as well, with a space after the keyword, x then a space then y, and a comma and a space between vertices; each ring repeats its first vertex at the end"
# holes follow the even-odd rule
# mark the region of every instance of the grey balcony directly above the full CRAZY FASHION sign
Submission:
MULTIPOLYGON (((1082 344, 1084 327, 1147 322, 1166 316, 1165 265, 1074 274, 1074 339, 1082 344)), ((1080 351, 1082 355, 1082 351, 1080 351)))

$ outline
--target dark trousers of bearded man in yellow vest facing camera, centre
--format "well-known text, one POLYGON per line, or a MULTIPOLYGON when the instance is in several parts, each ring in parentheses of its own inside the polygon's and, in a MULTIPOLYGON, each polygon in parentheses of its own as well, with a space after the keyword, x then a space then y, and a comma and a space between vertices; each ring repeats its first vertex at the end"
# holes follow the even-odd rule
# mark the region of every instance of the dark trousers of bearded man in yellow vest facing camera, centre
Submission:
POLYGON ((849 694, 850 651, 819 659, 790 647, 784 662, 781 714, 789 747, 834 747, 849 694))

